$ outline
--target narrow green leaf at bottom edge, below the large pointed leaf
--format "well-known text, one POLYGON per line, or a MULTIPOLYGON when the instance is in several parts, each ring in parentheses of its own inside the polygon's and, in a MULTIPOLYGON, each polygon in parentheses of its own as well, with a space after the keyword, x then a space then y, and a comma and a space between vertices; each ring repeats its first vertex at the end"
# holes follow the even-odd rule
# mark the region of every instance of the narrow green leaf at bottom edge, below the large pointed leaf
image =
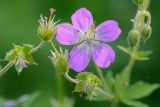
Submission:
POLYGON ((135 100, 129 100, 129 99, 125 99, 122 98, 121 101, 131 107, 149 107, 147 104, 143 104, 140 101, 135 101, 135 100))

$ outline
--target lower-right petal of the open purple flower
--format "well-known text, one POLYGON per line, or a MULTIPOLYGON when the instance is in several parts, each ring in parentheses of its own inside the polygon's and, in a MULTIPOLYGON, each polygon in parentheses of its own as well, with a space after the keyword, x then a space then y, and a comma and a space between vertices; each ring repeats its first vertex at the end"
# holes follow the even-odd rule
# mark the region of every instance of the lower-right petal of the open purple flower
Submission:
POLYGON ((107 68, 114 62, 115 52, 110 46, 99 43, 92 50, 92 58, 98 66, 107 68))

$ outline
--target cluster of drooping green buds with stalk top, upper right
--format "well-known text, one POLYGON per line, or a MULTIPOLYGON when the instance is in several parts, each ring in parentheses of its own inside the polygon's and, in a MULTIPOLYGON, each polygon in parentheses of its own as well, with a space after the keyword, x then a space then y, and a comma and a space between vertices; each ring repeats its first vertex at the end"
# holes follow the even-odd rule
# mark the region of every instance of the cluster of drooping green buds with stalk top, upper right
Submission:
POLYGON ((149 4, 149 0, 134 0, 134 2, 138 5, 139 10, 133 20, 134 28, 128 33, 127 37, 128 44, 132 48, 139 44, 141 38, 144 41, 149 39, 152 33, 152 28, 150 25, 151 15, 146 8, 148 7, 146 5, 149 4))

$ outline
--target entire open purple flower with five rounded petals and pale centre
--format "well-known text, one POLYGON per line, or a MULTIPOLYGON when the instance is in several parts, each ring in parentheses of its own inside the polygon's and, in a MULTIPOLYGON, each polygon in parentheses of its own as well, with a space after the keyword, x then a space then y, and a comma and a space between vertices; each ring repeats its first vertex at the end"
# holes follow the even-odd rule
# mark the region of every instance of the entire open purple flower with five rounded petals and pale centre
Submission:
POLYGON ((62 24, 56 35, 59 43, 75 45, 69 53, 69 67, 81 72, 91 58, 99 67, 109 67, 114 62, 115 52, 105 42, 114 41, 120 36, 118 23, 108 20, 95 27, 90 11, 81 8, 72 15, 72 24, 62 24))

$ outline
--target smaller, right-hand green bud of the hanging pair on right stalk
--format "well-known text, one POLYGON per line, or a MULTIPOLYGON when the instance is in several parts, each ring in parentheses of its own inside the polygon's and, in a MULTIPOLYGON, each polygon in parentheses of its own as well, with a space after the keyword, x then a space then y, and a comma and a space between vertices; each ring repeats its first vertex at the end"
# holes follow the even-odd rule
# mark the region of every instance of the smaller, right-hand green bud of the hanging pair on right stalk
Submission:
POLYGON ((142 34, 142 37, 144 38, 144 40, 147 40, 152 34, 151 26, 148 24, 145 24, 142 28, 141 34, 142 34))

